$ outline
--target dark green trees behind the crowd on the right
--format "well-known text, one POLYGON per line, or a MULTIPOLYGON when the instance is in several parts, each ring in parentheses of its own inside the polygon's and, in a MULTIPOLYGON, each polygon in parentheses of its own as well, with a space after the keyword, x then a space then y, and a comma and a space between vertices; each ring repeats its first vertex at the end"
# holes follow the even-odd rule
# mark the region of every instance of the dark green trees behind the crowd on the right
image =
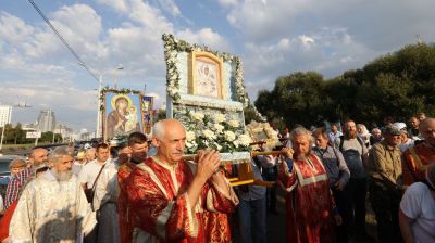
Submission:
POLYGON ((386 116, 407 120, 418 112, 433 116, 435 46, 407 46, 330 80, 314 72, 279 77, 254 103, 269 120, 289 126, 346 118, 382 124, 386 116))

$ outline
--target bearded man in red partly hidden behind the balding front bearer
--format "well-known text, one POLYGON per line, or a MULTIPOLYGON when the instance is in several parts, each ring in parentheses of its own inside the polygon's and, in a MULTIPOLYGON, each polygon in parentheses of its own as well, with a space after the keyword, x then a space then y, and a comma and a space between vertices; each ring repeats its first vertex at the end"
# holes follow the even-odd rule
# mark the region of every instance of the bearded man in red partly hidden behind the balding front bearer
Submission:
POLYGON ((128 200, 126 193, 125 180, 136 168, 136 165, 145 162, 148 152, 147 137, 141 132, 133 132, 128 136, 127 146, 124 155, 120 154, 120 169, 117 170, 117 183, 120 195, 117 201, 119 222, 121 232, 121 242, 132 242, 133 227, 128 220, 128 200))

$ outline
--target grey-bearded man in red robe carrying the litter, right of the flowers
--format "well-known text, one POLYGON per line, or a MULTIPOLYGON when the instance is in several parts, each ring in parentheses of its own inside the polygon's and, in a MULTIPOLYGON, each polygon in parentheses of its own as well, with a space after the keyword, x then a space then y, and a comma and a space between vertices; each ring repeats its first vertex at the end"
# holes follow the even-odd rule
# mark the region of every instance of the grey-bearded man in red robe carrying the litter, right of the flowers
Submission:
POLYGON ((326 169, 311 153, 311 132, 298 127, 290 133, 291 149, 284 148, 285 162, 278 183, 287 192, 287 242, 335 242, 334 220, 341 225, 330 190, 326 169))

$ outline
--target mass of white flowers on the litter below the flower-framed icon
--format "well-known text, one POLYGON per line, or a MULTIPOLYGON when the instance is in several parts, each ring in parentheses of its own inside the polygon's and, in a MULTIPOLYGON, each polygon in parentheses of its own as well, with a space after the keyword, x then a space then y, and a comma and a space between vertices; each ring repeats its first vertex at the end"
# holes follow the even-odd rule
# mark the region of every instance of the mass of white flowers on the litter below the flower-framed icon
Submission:
POLYGON ((221 153, 250 150, 249 144, 252 140, 249 135, 245 133, 240 123, 236 119, 224 114, 212 115, 187 108, 178 114, 182 114, 179 119, 187 129, 186 149, 188 154, 195 154, 197 150, 201 149, 213 149, 221 153))

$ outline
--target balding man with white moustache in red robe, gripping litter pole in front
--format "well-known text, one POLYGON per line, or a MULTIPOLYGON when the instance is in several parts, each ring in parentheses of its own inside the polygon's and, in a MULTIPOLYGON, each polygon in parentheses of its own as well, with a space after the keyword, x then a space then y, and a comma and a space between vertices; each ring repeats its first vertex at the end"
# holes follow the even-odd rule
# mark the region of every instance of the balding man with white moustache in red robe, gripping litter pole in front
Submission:
POLYGON ((128 217, 134 242, 229 242, 227 215, 238 200, 215 151, 198 152, 197 163, 183 161, 186 129, 176 119, 154 124, 156 156, 128 177, 128 217))

